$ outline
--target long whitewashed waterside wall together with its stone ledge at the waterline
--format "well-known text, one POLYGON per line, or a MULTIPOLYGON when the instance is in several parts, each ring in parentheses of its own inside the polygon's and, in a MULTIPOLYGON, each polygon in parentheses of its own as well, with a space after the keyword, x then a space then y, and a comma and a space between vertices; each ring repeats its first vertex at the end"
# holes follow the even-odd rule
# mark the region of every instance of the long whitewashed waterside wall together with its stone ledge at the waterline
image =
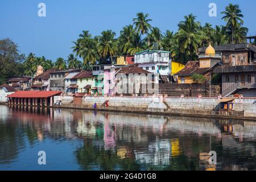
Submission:
MULTIPOLYGON (((233 98, 232 110, 222 110, 221 97, 150 97, 85 96, 79 104, 71 96, 55 96, 53 107, 119 111, 129 113, 184 115, 193 117, 234 118, 256 120, 256 98, 233 98), (108 104, 107 104, 108 103, 108 104)), ((76 100, 77 101, 77 100, 76 100)))

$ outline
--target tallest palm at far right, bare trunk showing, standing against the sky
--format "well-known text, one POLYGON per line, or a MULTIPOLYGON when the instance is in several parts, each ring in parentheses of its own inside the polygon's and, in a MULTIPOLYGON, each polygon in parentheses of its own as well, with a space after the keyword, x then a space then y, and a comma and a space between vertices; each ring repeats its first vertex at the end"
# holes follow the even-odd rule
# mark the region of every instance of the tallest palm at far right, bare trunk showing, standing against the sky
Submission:
POLYGON ((226 27, 230 27, 232 29, 232 43, 234 43, 234 32, 237 28, 239 28, 243 24, 243 14, 240 10, 239 5, 233 5, 230 3, 226 10, 221 12, 224 16, 221 19, 224 19, 226 23, 226 27))

